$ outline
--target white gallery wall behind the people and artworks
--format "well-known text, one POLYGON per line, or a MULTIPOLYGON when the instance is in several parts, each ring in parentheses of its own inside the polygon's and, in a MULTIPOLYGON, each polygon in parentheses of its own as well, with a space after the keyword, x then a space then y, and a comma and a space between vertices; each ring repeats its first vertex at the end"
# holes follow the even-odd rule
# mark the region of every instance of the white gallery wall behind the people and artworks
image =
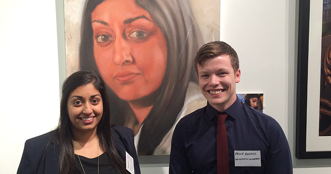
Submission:
MULTIPOLYGON (((65 66, 63 26, 56 26, 61 1, 0 1, 0 174, 15 174, 25 140, 57 124, 65 66)), ((239 55, 237 92, 264 94, 264 112, 282 126, 294 156, 298 0, 220 5, 221 40, 239 55)), ((293 157, 293 163, 294 174, 331 173, 331 159, 293 157)), ((167 174, 167 166, 142 164, 141 171, 167 174)))

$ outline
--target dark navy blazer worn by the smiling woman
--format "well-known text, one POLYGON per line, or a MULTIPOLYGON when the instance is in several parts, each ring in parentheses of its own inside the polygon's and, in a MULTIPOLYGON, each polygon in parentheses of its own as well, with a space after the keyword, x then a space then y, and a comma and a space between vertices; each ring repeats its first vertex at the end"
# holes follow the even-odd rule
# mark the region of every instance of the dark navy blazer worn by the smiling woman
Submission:
MULTIPOLYGON (((53 131, 26 140, 17 174, 58 174, 59 149, 52 140, 53 131)), ((114 126, 111 128, 117 152, 125 161, 125 152, 133 157, 134 173, 140 174, 138 157, 131 129, 114 126)))

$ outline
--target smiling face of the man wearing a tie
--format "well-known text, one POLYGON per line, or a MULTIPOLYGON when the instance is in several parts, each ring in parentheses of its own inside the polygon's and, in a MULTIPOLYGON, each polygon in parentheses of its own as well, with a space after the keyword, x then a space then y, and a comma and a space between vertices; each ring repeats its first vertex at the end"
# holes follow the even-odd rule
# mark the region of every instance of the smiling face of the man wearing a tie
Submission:
POLYGON ((240 69, 234 73, 229 55, 204 60, 203 65, 198 66, 198 78, 203 96, 218 111, 226 110, 235 102, 240 69))

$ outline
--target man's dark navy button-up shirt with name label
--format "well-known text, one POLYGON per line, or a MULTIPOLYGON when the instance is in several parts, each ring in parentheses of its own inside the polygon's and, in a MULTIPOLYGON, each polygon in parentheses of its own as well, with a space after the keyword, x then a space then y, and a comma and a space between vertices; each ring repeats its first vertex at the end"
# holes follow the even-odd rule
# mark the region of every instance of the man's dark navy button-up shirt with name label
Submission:
MULTIPOLYGON (((231 174, 293 173, 289 144, 274 118, 250 108, 238 98, 223 113, 228 114, 225 126, 231 174), (235 165, 234 151, 260 152, 260 160, 254 157, 260 166, 238 167, 240 162, 251 164, 251 161, 237 155, 235 165)), ((170 174, 217 173, 216 114, 220 113, 207 103, 178 122, 171 142, 170 174)))

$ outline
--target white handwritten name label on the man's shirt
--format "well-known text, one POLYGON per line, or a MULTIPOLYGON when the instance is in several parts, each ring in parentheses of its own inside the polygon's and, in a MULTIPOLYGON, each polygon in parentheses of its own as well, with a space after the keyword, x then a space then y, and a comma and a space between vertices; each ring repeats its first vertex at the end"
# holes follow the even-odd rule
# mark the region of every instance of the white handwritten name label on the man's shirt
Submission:
POLYGON ((261 151, 235 151, 235 166, 261 167, 261 151))

